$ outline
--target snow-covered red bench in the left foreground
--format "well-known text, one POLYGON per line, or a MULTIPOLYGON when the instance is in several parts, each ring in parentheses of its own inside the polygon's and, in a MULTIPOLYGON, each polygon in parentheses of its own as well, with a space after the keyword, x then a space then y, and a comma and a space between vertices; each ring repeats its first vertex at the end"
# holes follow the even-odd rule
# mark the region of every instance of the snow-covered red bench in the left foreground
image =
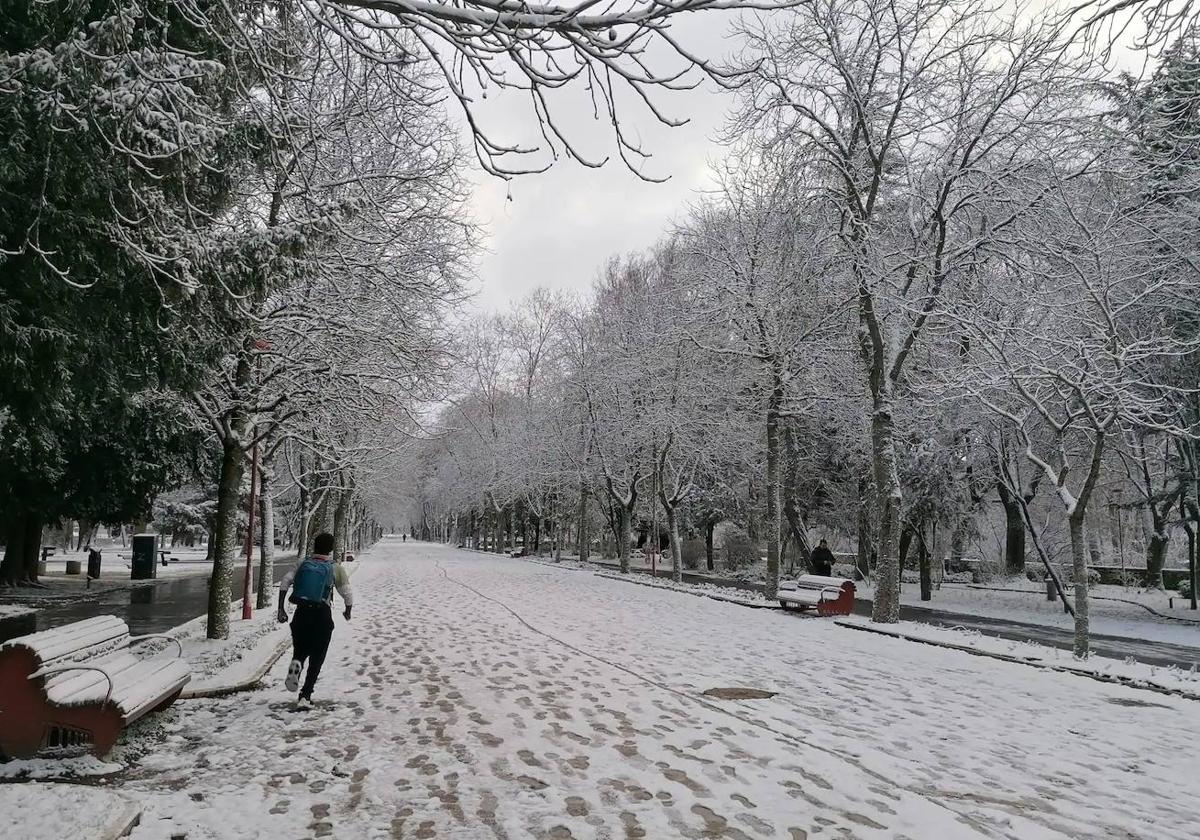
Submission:
POLYGON ((88 618, 0 644, 0 756, 91 751, 167 708, 191 679, 169 636, 130 636, 114 616, 88 618), (132 644, 169 638, 179 656, 134 656, 132 644))

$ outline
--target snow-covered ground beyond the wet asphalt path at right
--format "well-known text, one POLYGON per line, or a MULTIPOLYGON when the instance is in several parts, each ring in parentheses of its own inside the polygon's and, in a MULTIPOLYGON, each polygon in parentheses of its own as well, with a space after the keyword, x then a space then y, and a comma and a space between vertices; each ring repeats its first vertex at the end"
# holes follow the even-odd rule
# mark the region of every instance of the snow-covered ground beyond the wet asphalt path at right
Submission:
MULTIPOLYGON (((865 583, 857 586, 859 587, 859 598, 874 596, 874 586, 865 583)), ((1104 589, 1121 590, 1121 587, 1104 587, 1104 589)), ((1130 594, 1135 594, 1135 590, 1130 590, 1130 594)), ((1163 601, 1162 607, 1165 612, 1166 596, 1162 593, 1158 593, 1158 596, 1163 601)), ((1070 596, 1068 595, 1068 598, 1070 596)), ((1142 600, 1151 600, 1151 598, 1152 594, 1146 594, 1142 600)), ((1063 630, 1074 628, 1074 619, 1063 612, 1062 602, 1058 600, 1048 601, 1044 588, 1040 592, 1006 592, 946 583, 941 589, 934 592, 934 600, 922 601, 920 587, 906 583, 902 587, 900 600, 902 604, 914 607, 944 610, 985 618, 1003 618, 1026 624, 1043 624, 1063 630)), ((1200 616, 1194 616, 1190 611, 1176 610, 1175 612, 1178 613, 1180 618, 1194 617, 1200 620, 1200 616)), ((1200 648, 1200 623, 1156 616, 1135 604, 1092 599, 1088 604, 1088 618, 1093 634, 1127 636, 1200 648)))

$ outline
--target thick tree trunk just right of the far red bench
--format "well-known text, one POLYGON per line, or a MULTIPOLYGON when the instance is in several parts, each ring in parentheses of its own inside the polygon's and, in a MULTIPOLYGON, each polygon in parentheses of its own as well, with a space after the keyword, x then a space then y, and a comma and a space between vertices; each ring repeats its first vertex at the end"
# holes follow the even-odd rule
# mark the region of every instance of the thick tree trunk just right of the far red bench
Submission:
POLYGON ((889 400, 877 397, 871 416, 875 486, 878 492, 878 566, 875 570, 875 604, 871 620, 895 624, 900 620, 900 556, 896 534, 900 526, 900 475, 896 469, 895 430, 889 400))

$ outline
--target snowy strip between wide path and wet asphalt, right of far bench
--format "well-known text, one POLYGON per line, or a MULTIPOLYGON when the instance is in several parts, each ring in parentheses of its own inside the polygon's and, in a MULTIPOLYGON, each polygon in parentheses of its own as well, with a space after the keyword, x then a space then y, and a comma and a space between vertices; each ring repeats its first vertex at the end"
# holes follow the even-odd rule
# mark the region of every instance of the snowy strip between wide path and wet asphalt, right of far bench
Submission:
POLYGON ((1200 701, 1200 672, 1198 672, 1195 666, 1183 670, 1177 667, 1156 667, 1153 665, 1120 661, 1104 656, 1076 659, 1069 650, 1060 648, 1045 647, 1032 642, 1014 642, 988 636, 977 630, 940 628, 920 622, 872 624, 865 617, 847 616, 839 618, 836 623, 842 626, 863 628, 871 632, 894 635, 911 641, 968 648, 982 654, 1001 656, 1038 667, 1098 677, 1134 688, 1171 691, 1190 700, 1200 701))

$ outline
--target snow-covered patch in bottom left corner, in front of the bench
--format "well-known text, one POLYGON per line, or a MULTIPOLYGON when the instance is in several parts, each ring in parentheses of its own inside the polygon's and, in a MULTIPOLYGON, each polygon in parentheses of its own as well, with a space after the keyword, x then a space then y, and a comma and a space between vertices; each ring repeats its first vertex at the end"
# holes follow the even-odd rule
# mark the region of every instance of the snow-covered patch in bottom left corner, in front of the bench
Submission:
POLYGON ((20 840, 116 840, 125 836, 140 812, 127 797, 103 787, 38 782, 0 786, 0 814, 8 820, 17 816, 20 840))

